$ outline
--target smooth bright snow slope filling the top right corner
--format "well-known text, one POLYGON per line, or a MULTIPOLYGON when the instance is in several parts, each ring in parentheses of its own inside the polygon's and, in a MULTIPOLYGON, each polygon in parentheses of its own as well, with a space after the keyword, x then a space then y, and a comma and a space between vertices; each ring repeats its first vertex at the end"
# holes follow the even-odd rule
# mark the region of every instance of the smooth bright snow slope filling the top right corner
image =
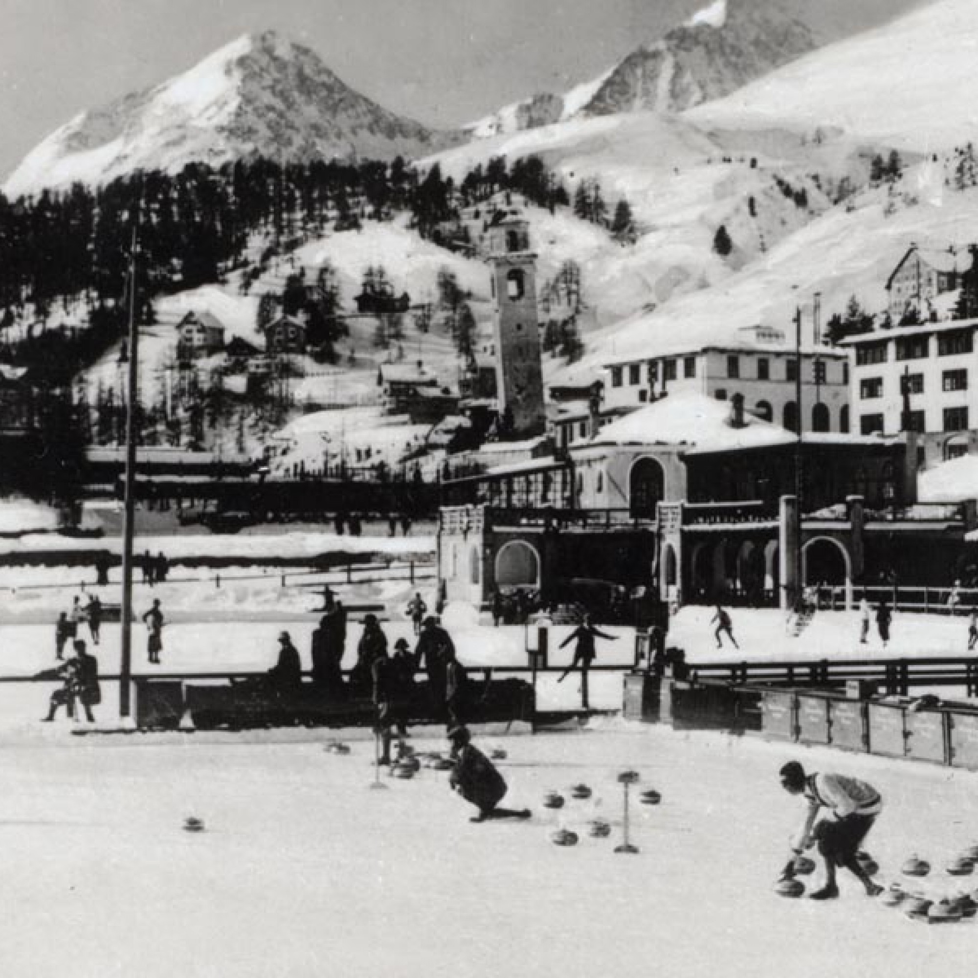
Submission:
POLYGON ((841 126, 900 147, 946 149, 974 139, 976 55, 978 4, 937 0, 688 115, 709 126, 841 126))

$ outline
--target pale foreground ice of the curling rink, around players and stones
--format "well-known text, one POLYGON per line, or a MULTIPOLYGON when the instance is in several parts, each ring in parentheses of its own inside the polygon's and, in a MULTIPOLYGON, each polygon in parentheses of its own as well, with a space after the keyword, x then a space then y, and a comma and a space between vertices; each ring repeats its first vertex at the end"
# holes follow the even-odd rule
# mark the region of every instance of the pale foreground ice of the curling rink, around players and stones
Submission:
MULTIPOLYGON (((844 874, 833 903, 772 887, 802 816, 778 785, 784 761, 875 784, 885 810, 867 848, 880 878, 918 853, 934 866, 919 882, 935 895, 978 886, 943 872, 978 842, 978 775, 596 720, 585 731, 477 735, 507 751, 508 800, 534 816, 472 824, 446 774, 383 777, 388 787, 373 790, 363 732, 345 756, 324 749, 335 732, 305 735, 257 743, 59 728, 0 748, 0 972, 919 978, 973 966, 974 920, 912 921, 844 874), (663 796, 633 805, 634 856, 613 853, 625 768, 663 796), (581 781, 589 801, 569 797, 581 781), (567 796, 561 811, 541 806, 549 790, 567 796), (206 830, 182 830, 188 816, 206 830), (596 816, 613 823, 610 838, 587 834, 596 816), (553 845, 557 826, 580 843, 553 845)), ((412 742, 446 746, 421 729, 412 742)))

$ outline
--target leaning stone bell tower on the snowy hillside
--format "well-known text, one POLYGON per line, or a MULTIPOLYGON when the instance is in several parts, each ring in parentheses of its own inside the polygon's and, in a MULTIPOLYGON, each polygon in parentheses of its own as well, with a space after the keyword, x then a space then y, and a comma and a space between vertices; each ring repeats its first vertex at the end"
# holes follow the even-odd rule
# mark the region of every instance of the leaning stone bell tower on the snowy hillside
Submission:
POLYGON ((492 264, 496 391, 507 433, 529 438, 543 434, 543 364, 537 323, 536 258, 528 225, 520 217, 494 221, 488 231, 492 264))

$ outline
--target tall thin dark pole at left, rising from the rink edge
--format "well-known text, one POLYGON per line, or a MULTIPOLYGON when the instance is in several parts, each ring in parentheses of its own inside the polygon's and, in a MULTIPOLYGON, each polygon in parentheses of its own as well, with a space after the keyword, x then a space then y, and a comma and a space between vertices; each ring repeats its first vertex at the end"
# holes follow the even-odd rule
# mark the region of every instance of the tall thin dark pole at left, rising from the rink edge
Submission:
POLYGON ((139 225, 139 209, 132 225, 132 243, 129 250, 129 377, 128 403, 125 418, 125 495, 122 516, 122 600, 120 617, 122 645, 119 652, 119 717, 130 714, 132 685, 132 569, 133 536, 136 516, 136 438, 138 423, 136 406, 139 391, 139 331, 136 329, 136 233, 139 225))

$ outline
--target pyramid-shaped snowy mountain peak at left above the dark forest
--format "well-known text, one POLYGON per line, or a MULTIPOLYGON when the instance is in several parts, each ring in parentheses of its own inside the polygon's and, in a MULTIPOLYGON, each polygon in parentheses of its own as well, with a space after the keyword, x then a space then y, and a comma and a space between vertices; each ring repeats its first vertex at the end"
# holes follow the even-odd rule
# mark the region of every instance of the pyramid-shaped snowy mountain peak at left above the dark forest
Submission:
POLYGON ((192 161, 417 156, 459 138, 381 108, 313 51, 265 31, 77 115, 24 157, 4 193, 98 184, 141 167, 175 172, 192 161))

